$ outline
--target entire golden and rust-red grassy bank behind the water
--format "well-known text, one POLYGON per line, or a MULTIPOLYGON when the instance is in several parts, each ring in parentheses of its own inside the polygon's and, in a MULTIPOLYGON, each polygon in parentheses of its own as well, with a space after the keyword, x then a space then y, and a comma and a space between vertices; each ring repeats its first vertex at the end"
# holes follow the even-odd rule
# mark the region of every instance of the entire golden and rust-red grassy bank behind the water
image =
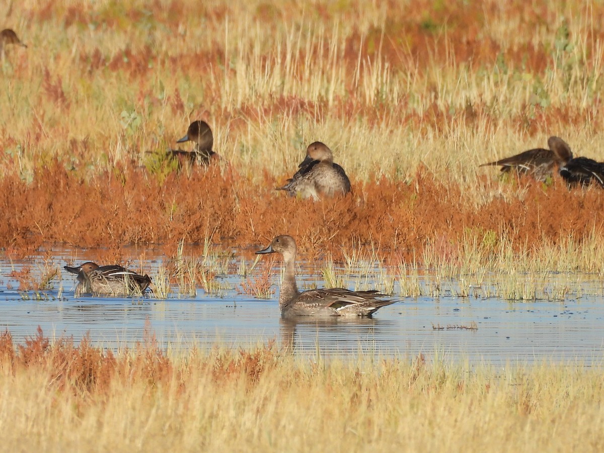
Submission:
POLYGON ((0 245, 248 246, 290 228, 307 251, 373 240, 411 262, 465 228, 576 246, 602 229, 599 191, 477 168, 549 135, 604 159, 602 5, 314 5, 25 1, 11 21, 29 47, 0 77, 0 245), (222 160, 178 173, 165 149, 198 118, 222 160), (315 140, 352 178, 333 205, 272 190, 315 140))

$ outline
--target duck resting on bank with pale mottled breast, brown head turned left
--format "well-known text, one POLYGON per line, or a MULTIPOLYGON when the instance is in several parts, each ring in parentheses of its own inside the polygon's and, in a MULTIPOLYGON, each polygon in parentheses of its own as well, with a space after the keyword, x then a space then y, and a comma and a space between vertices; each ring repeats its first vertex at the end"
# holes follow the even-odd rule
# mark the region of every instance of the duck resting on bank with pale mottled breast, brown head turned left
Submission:
POLYGON ((351 186, 344 169, 333 162, 332 150, 315 141, 307 147, 306 158, 298 165, 298 171, 277 190, 285 190, 290 196, 318 200, 345 195, 351 186))

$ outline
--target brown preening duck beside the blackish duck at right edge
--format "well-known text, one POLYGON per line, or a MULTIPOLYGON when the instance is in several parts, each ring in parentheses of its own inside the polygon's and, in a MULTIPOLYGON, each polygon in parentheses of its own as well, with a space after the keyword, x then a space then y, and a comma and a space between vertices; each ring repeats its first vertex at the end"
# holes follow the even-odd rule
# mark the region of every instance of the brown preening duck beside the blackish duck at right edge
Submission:
POLYGON ((547 140, 549 149, 535 148, 516 154, 515 156, 500 159, 486 165, 501 165, 501 172, 508 173, 516 170, 519 175, 533 176, 537 181, 545 182, 551 178, 554 168, 561 168, 573 158, 570 146, 560 137, 551 136, 547 140))

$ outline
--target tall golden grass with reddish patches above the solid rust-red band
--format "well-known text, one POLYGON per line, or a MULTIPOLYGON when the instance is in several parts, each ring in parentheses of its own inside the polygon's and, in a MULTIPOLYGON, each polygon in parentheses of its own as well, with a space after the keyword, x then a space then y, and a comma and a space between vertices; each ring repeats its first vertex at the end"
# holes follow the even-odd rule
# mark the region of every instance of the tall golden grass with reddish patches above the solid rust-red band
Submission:
POLYGON ((1 170, 150 165, 192 118, 255 183, 313 140, 361 180, 422 162, 471 183, 492 172, 477 161, 552 134, 602 159, 603 18, 553 0, 26 0, 5 21, 30 47, 2 68, 1 170))

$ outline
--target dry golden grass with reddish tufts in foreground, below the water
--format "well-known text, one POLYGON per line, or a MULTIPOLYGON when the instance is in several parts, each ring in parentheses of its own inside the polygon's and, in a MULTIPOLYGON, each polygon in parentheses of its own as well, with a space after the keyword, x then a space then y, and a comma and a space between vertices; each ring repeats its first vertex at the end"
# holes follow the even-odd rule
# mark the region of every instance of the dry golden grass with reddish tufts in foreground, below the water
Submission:
POLYGON ((602 451, 602 366, 0 339, 7 451, 602 451))

